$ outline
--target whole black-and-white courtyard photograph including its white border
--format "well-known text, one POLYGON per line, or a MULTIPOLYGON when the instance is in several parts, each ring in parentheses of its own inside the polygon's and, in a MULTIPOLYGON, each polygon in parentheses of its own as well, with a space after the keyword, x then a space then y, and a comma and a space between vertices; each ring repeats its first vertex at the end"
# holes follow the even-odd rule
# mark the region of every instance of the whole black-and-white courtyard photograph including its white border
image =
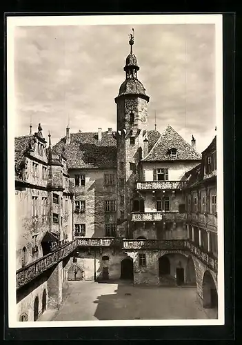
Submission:
POLYGON ((10 328, 224 324, 222 25, 7 18, 10 328))

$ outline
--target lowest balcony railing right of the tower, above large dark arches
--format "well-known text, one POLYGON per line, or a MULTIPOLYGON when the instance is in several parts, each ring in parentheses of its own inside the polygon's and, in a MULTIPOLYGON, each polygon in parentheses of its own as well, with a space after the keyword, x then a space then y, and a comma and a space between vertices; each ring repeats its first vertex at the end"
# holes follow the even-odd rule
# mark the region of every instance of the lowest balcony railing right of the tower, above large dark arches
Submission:
POLYGON ((184 249, 183 239, 123 239, 123 249, 184 249))

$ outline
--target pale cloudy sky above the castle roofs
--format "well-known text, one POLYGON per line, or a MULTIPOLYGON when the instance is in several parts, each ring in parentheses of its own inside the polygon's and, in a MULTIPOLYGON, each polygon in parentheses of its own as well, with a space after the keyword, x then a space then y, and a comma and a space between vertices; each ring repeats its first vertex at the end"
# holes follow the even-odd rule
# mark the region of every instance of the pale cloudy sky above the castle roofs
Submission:
POLYGON ((15 27, 15 136, 29 134, 30 121, 53 144, 68 123, 71 132, 116 130, 132 27, 148 128, 156 113, 157 130, 170 124, 203 151, 216 134, 214 24, 15 27))

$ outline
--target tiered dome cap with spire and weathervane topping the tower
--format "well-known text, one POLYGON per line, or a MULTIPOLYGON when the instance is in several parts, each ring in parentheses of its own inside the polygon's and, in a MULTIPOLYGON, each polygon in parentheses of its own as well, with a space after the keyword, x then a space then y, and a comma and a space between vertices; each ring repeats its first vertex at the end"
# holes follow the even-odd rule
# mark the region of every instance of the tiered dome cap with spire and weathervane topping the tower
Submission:
POLYGON ((130 34, 130 54, 126 58, 125 66, 123 70, 125 71, 125 81, 121 84, 119 88, 119 95, 115 98, 123 97, 125 95, 137 95, 146 101, 150 100, 150 97, 145 94, 145 88, 143 84, 137 79, 137 72, 139 70, 137 57, 132 51, 132 46, 134 45, 134 29, 132 29, 132 34, 130 34))

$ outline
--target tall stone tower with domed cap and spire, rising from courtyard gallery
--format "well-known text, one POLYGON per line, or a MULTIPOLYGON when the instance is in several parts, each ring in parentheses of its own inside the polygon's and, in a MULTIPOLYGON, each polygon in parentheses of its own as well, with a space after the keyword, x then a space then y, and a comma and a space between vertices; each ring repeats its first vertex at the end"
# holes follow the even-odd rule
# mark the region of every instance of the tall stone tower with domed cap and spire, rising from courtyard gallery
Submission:
MULTIPOLYGON (((133 30, 133 29, 132 29, 133 30)), ((118 224, 121 237, 132 237, 131 212, 135 197, 136 181, 140 174, 143 140, 147 132, 147 104, 143 84, 137 79, 139 66, 132 52, 134 30, 130 34, 130 54, 126 58, 125 81, 119 88, 117 103, 117 178, 118 178, 118 224)))

